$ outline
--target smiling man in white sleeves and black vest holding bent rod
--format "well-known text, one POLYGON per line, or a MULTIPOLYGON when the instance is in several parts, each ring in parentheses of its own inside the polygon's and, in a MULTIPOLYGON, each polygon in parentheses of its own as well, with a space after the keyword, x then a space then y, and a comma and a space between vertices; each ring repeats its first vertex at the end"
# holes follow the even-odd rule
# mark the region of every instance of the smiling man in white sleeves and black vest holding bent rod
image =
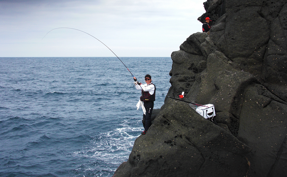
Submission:
POLYGON ((144 131, 141 133, 142 135, 146 134, 146 131, 149 130, 149 127, 152 124, 152 110, 153 110, 153 102, 155 101, 155 85, 152 84, 152 77, 147 74, 144 76, 144 80, 146 84, 142 84, 141 82, 136 81, 137 78, 134 77, 135 80, 135 88, 137 90, 141 90, 141 98, 140 101, 144 102, 145 113, 143 115, 144 131))

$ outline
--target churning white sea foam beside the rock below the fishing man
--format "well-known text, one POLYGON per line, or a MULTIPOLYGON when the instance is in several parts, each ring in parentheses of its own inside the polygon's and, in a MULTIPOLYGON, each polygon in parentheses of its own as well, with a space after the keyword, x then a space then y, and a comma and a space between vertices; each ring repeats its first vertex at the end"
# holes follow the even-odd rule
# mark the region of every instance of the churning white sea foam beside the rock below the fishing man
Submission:
POLYGON ((101 133, 74 156, 89 157, 108 164, 119 164, 126 161, 131 153, 135 139, 142 130, 139 119, 129 118, 119 124, 119 128, 101 133), (134 127, 134 125, 138 127, 134 127), (132 127, 133 126, 133 127, 132 127))

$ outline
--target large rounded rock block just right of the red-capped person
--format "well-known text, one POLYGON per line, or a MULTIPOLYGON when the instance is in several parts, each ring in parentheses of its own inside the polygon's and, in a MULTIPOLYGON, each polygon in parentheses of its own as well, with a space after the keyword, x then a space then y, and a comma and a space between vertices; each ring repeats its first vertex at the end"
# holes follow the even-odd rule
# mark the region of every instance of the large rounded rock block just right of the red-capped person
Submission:
POLYGON ((226 47, 219 49, 228 58, 249 57, 260 47, 267 44, 270 36, 269 26, 266 19, 259 15, 260 8, 257 6, 237 7, 235 12, 230 10, 230 13, 227 13, 224 40, 214 43, 226 47), (256 28, 256 31, 254 28, 256 28), (260 37, 258 37, 259 35, 260 37))

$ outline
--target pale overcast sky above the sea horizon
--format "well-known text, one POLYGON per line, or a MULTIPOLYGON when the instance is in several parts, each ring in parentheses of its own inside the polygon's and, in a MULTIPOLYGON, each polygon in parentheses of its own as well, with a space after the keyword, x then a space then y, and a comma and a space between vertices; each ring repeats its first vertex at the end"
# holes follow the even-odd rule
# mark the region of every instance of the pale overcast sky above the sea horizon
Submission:
POLYGON ((60 27, 119 57, 169 57, 202 32, 205 1, 0 0, 0 57, 115 56, 60 27))

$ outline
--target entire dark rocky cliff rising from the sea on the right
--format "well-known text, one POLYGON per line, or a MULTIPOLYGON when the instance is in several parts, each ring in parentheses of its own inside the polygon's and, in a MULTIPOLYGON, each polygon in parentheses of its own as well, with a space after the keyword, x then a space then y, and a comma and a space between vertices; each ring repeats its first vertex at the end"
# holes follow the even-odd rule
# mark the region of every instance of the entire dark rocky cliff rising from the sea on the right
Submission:
POLYGON ((210 34, 171 54, 171 87, 116 177, 287 176, 287 1, 210 0, 210 34), (219 14, 220 13, 220 14, 219 14), (214 104, 218 125, 185 101, 214 104))

